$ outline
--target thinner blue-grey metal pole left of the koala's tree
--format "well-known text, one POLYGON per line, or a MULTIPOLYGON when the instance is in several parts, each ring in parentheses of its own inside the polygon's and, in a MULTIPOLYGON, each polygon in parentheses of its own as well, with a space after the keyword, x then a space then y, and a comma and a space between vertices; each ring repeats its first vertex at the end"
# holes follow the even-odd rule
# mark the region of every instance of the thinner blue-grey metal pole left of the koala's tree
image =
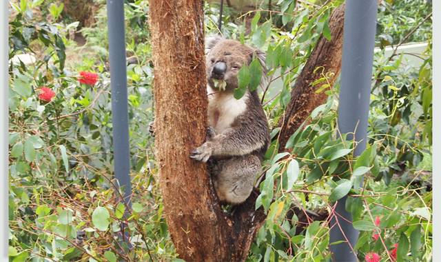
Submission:
POLYGON ((124 1, 107 1, 110 86, 112 88, 112 127, 114 172, 124 190, 123 201, 130 205, 129 123, 127 113, 127 72, 125 61, 124 1))

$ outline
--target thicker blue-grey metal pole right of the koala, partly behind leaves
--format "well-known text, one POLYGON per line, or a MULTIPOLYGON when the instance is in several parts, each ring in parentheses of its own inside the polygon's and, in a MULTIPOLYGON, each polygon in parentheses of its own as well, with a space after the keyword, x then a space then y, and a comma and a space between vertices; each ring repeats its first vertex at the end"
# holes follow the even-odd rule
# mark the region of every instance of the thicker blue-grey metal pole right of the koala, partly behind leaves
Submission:
MULTIPOLYGON (((342 134, 355 131, 355 137, 352 134, 347 137, 359 141, 355 155, 366 148, 377 4, 377 0, 346 1, 338 127, 342 134)), ((341 217, 331 220, 331 243, 345 241, 345 236, 349 240, 349 243, 331 245, 334 261, 338 262, 358 261, 351 249, 358 239, 358 231, 352 226, 351 214, 345 210, 346 199, 345 196, 338 201, 335 211, 347 221, 341 217)))

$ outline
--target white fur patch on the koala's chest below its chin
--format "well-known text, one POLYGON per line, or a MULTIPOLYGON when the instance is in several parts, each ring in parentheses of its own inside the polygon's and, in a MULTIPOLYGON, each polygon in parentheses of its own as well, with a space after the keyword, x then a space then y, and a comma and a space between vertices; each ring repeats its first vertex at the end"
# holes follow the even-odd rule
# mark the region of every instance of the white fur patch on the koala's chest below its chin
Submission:
POLYGON ((219 92, 207 86, 208 122, 220 134, 230 128, 234 119, 247 109, 248 93, 235 99, 232 92, 219 92))

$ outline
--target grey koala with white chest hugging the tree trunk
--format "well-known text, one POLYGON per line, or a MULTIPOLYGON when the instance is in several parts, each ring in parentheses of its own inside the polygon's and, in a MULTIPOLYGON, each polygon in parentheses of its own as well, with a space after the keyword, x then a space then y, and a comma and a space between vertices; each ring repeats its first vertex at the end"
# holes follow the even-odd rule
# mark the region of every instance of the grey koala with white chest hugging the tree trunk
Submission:
POLYGON ((265 69, 265 53, 239 41, 211 37, 206 46, 207 140, 192 159, 208 162, 221 203, 237 205, 251 194, 269 145, 267 117, 256 91, 234 98, 240 68, 256 57, 265 69))

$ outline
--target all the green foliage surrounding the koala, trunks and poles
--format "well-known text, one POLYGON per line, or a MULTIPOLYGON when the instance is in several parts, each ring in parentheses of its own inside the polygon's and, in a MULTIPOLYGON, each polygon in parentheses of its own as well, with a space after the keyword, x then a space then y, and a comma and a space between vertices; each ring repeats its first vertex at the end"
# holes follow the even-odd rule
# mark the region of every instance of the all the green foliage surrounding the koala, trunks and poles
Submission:
MULTIPOLYGON (((402 41, 431 11, 422 1, 408 2, 380 6, 378 41, 382 34, 402 41), (397 14, 415 21, 390 23, 397 14)), ((361 232, 353 247, 360 260, 371 252, 382 259, 396 254, 398 261, 431 260, 431 184, 422 183, 431 176, 431 43, 420 68, 395 54, 376 54, 369 141, 360 157, 353 156, 356 143, 338 132, 339 86, 329 85, 329 72, 320 65, 322 79, 314 85, 329 96, 327 103, 291 136, 289 152, 278 152, 276 123, 291 87, 318 38, 330 39, 329 15, 341 3, 280 0, 271 12, 265 6, 246 15, 224 10, 223 34, 265 51, 269 68, 265 75, 257 60, 243 67, 236 90, 238 97, 247 88, 258 90, 273 130, 257 185, 256 208, 265 209, 267 220, 249 261, 329 261, 329 244, 336 244, 329 243, 329 220, 336 215, 334 201, 346 195, 361 232), (257 85, 260 77, 267 78, 263 86, 257 85)), ((179 261, 146 135, 153 106, 148 3, 125 3, 131 207, 119 203, 123 192, 111 175, 107 16, 104 1, 96 4, 96 25, 81 29, 87 39, 81 47, 70 40, 78 23, 65 24, 72 18, 63 17, 59 2, 10 2, 10 57, 37 57, 36 63, 9 68, 12 261, 179 261), (51 18, 42 19, 45 14, 51 18), (81 71, 98 74, 98 81, 80 83, 81 71), (55 96, 39 98, 43 87, 55 96)), ((218 7, 205 3, 207 34, 217 32, 217 19, 218 7)), ((430 30, 427 21, 407 41, 430 39, 430 30)))

